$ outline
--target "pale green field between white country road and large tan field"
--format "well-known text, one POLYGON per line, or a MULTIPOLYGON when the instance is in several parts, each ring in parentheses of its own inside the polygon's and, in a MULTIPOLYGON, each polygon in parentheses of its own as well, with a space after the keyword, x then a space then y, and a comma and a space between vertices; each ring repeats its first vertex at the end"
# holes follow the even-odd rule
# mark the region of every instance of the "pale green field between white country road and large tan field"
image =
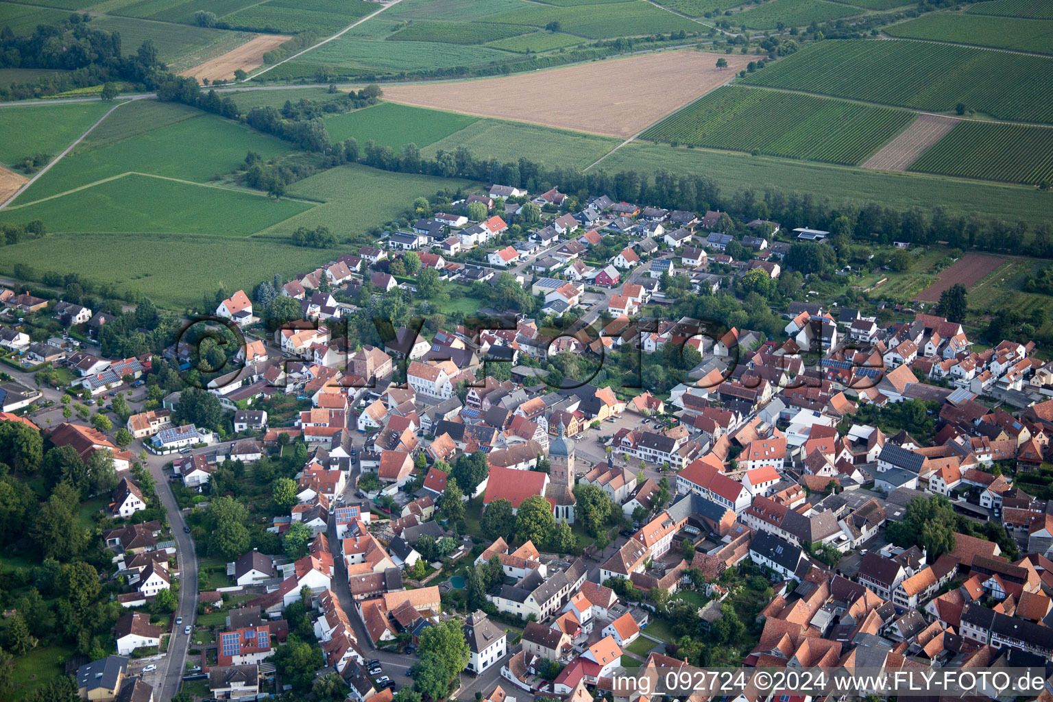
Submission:
POLYGON ((491 61, 506 61, 509 58, 508 53, 486 46, 426 41, 369 41, 344 36, 304 54, 296 62, 282 64, 271 73, 296 77, 313 75, 319 65, 331 65, 346 75, 367 75, 374 72, 417 71, 422 67, 473 66, 491 61))

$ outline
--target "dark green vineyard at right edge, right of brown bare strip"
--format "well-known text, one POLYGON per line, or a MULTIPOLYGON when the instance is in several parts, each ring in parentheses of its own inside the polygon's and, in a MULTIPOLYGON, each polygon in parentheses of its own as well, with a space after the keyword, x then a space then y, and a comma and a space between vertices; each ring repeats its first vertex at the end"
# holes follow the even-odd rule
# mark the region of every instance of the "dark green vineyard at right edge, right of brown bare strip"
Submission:
POLYGON ((963 121, 910 171, 1014 183, 1053 182, 1053 127, 963 121))

